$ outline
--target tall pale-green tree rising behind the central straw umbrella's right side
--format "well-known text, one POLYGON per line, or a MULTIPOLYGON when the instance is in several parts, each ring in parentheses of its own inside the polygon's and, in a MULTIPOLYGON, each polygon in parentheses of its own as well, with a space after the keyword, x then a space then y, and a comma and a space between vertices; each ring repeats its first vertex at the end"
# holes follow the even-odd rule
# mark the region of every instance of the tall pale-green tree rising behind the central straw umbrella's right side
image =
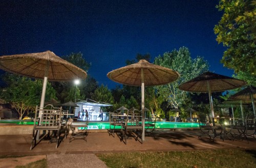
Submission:
POLYGON ((202 57, 191 59, 188 48, 181 47, 172 52, 165 52, 155 59, 155 64, 173 69, 180 77, 167 85, 157 86, 157 93, 162 96, 169 106, 178 108, 187 99, 187 92, 178 89, 182 83, 208 70, 208 63, 202 57))

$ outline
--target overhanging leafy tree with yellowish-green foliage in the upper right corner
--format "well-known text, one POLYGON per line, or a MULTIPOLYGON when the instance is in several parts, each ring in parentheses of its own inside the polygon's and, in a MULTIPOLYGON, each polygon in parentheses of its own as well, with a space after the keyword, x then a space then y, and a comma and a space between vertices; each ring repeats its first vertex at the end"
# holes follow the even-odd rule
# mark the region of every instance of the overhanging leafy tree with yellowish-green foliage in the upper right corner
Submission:
POLYGON ((256 75, 256 1, 220 0, 217 8, 224 11, 214 31, 218 43, 227 50, 221 62, 224 66, 256 75))

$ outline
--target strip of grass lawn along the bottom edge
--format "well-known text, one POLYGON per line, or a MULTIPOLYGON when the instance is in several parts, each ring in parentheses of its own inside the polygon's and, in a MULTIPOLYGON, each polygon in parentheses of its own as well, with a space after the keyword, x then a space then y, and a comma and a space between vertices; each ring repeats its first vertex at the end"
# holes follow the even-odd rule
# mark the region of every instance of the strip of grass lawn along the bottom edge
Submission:
MULTIPOLYGON (((256 167, 256 150, 242 149, 104 153, 97 156, 108 167, 256 167)), ((16 166, 20 167, 44 168, 47 160, 16 166)))

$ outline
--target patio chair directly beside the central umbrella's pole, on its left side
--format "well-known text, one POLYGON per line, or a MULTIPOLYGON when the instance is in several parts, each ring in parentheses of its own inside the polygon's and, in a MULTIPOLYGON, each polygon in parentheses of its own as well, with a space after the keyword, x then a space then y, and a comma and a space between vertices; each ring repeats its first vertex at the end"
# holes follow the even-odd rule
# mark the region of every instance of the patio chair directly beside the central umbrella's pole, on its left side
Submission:
POLYGON ((121 133, 122 138, 121 140, 124 141, 124 144, 127 144, 127 139, 135 138, 135 141, 138 141, 139 137, 141 139, 141 144, 143 144, 142 140, 142 132, 143 132, 143 125, 140 124, 142 121, 141 114, 134 114, 134 116, 131 116, 131 119, 129 120, 129 116, 123 116, 125 120, 125 124, 122 125, 121 133))

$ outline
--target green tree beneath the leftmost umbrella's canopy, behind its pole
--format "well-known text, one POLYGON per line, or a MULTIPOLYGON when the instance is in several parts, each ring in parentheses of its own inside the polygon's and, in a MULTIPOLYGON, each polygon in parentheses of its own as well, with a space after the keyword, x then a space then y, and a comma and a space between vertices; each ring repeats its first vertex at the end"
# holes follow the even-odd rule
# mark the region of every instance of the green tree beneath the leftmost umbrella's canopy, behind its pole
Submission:
MULTIPOLYGON (((42 80, 32 80, 27 77, 6 73, 4 81, 8 87, 4 88, 1 97, 16 109, 20 120, 24 114, 40 104, 42 80)), ((51 84, 47 82, 45 100, 56 99, 55 93, 51 84)))

